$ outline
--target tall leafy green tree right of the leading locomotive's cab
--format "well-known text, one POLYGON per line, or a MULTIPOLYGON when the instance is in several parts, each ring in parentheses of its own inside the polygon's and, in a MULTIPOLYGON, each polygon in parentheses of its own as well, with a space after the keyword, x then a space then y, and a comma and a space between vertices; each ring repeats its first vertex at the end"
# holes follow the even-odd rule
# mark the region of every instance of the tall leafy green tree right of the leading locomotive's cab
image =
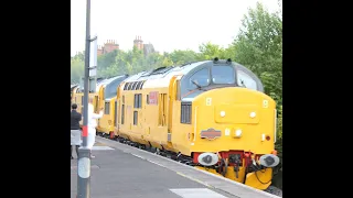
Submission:
MULTIPOLYGON (((277 102, 278 128, 276 148, 282 160, 282 18, 281 11, 269 13, 257 3, 244 16, 243 26, 234 41, 236 62, 248 67, 260 77, 265 92, 277 102)), ((231 50, 229 50, 231 51, 231 50)), ((281 166, 279 166, 281 169, 281 166)), ((281 178, 274 184, 281 188, 281 178)))

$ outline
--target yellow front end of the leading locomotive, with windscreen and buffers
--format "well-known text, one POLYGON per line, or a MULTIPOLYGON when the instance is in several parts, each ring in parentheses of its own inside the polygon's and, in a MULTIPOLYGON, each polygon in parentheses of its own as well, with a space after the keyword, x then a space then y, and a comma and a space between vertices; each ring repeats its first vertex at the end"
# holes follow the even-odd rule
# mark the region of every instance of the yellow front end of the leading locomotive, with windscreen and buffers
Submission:
MULTIPOLYGON (((231 61, 215 61, 180 84, 181 123, 190 128, 183 155, 197 168, 257 189, 271 184, 276 156, 276 103, 259 79, 231 61)), ((186 129, 186 128, 184 128, 186 129)))

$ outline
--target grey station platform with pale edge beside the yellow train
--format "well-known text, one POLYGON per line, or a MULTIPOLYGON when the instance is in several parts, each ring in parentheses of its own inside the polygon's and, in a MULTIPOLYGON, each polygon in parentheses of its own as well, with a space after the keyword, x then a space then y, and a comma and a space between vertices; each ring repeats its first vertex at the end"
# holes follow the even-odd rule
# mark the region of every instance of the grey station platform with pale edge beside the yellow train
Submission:
MULTIPOLYGON (((92 198, 279 198, 172 160, 96 138, 92 198)), ((71 197, 77 194, 77 157, 71 161, 71 197)))

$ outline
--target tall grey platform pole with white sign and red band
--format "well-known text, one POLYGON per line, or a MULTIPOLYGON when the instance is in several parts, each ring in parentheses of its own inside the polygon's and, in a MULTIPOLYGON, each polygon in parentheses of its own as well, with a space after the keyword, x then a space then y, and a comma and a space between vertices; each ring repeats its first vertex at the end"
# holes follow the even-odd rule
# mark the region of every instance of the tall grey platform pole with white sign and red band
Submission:
POLYGON ((85 50, 85 77, 84 77, 84 102, 83 102, 83 127, 82 146, 78 148, 77 161, 77 197, 90 198, 90 148, 87 147, 88 138, 88 95, 96 90, 97 70, 97 36, 90 38, 90 0, 87 0, 86 10, 86 50, 85 50), (93 52, 90 53, 90 44, 93 52), (92 59, 89 58, 92 56, 92 59), (89 61, 90 59, 90 61, 89 61))

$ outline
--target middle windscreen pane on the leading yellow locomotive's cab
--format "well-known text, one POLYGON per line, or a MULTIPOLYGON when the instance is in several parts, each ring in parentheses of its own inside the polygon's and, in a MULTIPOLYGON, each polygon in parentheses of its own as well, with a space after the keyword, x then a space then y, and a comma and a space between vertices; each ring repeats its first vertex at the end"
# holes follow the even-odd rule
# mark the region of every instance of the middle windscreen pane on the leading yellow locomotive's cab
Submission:
POLYGON ((235 84, 234 68, 231 66, 213 66, 212 82, 235 84))

